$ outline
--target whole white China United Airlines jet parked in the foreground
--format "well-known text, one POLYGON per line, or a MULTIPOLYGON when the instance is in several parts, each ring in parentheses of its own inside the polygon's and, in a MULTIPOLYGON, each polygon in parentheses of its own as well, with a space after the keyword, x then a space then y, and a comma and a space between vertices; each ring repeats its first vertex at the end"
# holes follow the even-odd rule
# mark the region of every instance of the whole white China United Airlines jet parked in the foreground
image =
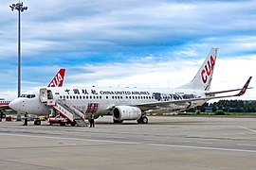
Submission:
POLYGON ((210 99, 240 96, 246 93, 251 76, 242 89, 210 92, 213 70, 218 48, 211 48, 197 74, 188 84, 175 89, 164 88, 100 88, 100 87, 61 87, 39 88, 27 92, 10 102, 13 110, 37 115, 57 112, 67 118, 71 126, 85 121, 91 113, 99 116, 112 115, 114 123, 124 120, 137 120, 147 124, 149 111, 182 111, 201 106, 210 99), (218 93, 235 94, 216 95, 218 93))

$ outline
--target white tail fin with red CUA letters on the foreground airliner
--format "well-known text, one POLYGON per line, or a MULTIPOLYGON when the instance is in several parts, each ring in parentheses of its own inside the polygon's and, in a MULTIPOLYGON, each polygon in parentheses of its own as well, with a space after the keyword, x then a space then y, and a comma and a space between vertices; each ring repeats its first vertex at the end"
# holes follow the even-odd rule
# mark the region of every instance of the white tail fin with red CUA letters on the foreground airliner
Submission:
POLYGON ((193 77, 192 81, 178 88, 209 91, 213 69, 217 57, 217 51, 218 48, 211 48, 209 55, 201 65, 197 74, 193 77))

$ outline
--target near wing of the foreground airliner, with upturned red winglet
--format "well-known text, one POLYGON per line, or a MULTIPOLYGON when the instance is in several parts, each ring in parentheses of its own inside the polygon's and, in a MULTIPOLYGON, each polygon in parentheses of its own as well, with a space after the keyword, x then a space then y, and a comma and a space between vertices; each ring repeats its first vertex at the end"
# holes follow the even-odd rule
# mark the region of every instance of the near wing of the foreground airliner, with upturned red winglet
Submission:
MULTIPOLYGON (((142 104, 139 104, 139 105, 136 105, 138 108, 140 109, 151 109, 151 108, 155 108, 155 107, 159 107, 159 106, 167 106, 167 105, 170 105, 170 104, 186 104, 186 103, 190 103, 190 102, 193 102, 193 101, 202 101, 202 100, 205 100, 205 101, 208 101, 210 99, 217 99, 217 98, 226 98, 226 97, 233 97, 233 96, 240 96, 240 95, 243 95, 244 93, 247 92, 247 89, 248 89, 248 84, 251 80, 251 77, 250 76, 248 79, 247 79, 247 82, 246 84, 244 85, 244 87, 242 89, 240 89, 240 92, 239 93, 236 93, 236 94, 233 94, 233 95, 221 95, 221 96, 207 96, 207 97, 199 97, 199 98, 190 98, 190 99, 181 99, 181 100, 171 100, 171 101, 159 101, 159 102, 151 102, 151 103, 142 103, 142 104)), ((227 91, 227 92, 232 92, 232 91, 227 91)))

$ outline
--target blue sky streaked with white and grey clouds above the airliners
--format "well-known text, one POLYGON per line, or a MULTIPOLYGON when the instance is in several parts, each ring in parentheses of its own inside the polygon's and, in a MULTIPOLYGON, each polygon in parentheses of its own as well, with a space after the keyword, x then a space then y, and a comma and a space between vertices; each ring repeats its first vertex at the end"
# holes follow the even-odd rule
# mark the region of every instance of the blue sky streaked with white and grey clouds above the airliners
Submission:
MULTIPOLYGON (((17 91, 17 11, 0 6, 0 94, 17 91)), ((256 86, 255 1, 24 0, 22 91, 65 85, 177 87, 219 47, 211 91, 256 86)), ((256 88, 242 99, 256 99, 256 88)))

